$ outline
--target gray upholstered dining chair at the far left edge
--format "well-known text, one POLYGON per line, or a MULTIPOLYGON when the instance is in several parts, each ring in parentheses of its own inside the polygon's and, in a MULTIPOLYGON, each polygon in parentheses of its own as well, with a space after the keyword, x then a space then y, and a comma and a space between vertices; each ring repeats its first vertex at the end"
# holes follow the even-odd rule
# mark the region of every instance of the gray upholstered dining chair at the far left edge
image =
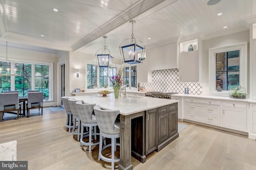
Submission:
POLYGON ((2 121, 3 112, 17 111, 17 119, 19 119, 19 94, 18 93, 1 93, 0 94, 0 121, 2 121))

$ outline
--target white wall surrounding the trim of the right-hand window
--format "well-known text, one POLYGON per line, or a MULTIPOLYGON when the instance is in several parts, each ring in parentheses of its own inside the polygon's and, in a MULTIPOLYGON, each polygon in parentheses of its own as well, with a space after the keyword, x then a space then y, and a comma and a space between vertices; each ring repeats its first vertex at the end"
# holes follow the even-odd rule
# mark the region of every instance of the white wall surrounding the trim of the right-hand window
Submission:
POLYGON ((250 32, 248 31, 243 31, 240 33, 234 33, 222 37, 217 37, 213 39, 208 39, 203 41, 203 68, 202 68, 202 83, 203 83, 203 92, 208 92, 209 91, 209 71, 208 71, 208 49, 214 48, 214 47, 221 47, 224 45, 230 45, 230 44, 236 44, 236 43, 242 43, 242 42, 248 42, 248 50, 247 50, 247 84, 248 87, 245 87, 247 92, 249 93, 249 42, 250 42, 250 32))

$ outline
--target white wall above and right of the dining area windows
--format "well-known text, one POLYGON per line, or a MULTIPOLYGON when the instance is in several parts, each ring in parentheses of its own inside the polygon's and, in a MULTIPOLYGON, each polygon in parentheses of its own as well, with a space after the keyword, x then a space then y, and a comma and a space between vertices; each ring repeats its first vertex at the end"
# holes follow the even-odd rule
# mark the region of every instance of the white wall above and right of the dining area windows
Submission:
MULTIPOLYGON (((6 47, 0 46, 0 60, 5 61, 6 47)), ((8 59, 10 61, 22 61, 29 63, 47 62, 53 63, 53 101, 44 102, 44 106, 56 105, 57 101, 57 63, 58 56, 55 54, 42 53, 38 51, 31 51, 26 49, 18 49, 8 47, 8 59), (48 104, 47 104, 48 103, 48 104)))

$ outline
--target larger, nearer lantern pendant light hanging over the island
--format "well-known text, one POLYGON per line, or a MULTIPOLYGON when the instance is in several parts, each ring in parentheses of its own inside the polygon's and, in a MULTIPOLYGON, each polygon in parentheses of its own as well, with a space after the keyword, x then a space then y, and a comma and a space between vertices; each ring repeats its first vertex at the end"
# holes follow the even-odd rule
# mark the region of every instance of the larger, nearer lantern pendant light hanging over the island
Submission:
POLYGON ((135 39, 133 34, 133 23, 136 21, 131 20, 132 23, 132 38, 125 39, 119 45, 120 53, 122 58, 124 59, 124 63, 129 64, 137 64, 142 63, 146 56, 145 53, 145 45, 138 39, 135 39))

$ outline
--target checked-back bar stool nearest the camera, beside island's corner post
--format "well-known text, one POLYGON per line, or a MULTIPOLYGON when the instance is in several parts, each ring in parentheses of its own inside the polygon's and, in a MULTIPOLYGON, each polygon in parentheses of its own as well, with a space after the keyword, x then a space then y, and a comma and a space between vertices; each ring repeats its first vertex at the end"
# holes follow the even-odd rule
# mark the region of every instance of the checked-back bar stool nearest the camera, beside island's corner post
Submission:
POLYGON ((120 137, 120 127, 115 123, 116 117, 120 113, 119 110, 102 110, 100 105, 94 106, 94 113, 100 129, 100 147, 98 160, 102 159, 106 162, 111 162, 111 169, 114 170, 114 162, 119 162, 120 158, 115 159, 116 145, 120 146, 120 143, 116 143, 116 138, 120 137), (110 138, 111 144, 105 145, 102 148, 103 137, 110 138), (102 150, 111 146, 111 158, 107 158, 102 155, 102 150))

